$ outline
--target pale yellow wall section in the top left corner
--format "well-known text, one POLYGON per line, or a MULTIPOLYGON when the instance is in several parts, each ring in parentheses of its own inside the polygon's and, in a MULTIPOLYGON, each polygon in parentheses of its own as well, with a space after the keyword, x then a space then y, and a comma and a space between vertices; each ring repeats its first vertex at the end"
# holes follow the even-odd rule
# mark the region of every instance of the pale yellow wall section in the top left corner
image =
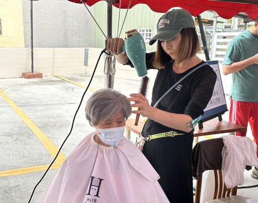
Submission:
POLYGON ((2 24, 0 47, 24 47, 21 0, 1 0, 0 19, 2 24))

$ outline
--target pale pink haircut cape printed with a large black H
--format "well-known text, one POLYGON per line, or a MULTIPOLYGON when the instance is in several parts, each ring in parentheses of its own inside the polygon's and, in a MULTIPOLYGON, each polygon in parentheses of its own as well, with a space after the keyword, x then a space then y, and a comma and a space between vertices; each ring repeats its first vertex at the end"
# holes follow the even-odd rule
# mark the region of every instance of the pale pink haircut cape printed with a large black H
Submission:
POLYGON ((86 136, 63 162, 40 203, 166 203, 160 178, 142 152, 123 137, 105 147, 86 136))

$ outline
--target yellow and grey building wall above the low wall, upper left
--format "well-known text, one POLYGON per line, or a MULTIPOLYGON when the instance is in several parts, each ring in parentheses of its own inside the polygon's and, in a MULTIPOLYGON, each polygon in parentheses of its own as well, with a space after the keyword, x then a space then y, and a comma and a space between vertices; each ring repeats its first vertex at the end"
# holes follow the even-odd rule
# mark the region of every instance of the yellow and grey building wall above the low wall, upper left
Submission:
MULTIPOLYGON (((93 20, 82 4, 67 0, 1 0, 0 47, 93 47, 93 20)), ((91 8, 89 8, 92 10, 91 8)))

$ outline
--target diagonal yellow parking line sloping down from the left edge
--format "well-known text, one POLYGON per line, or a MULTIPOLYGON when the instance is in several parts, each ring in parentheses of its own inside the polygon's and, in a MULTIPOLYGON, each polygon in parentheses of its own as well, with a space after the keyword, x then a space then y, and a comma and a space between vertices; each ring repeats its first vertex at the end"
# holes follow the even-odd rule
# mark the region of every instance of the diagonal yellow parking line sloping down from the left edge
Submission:
MULTIPOLYGON (((13 108, 14 112, 23 120, 23 122, 32 130, 37 136, 40 142, 44 145, 48 153, 54 158, 57 154, 57 147, 48 139, 48 137, 30 120, 30 118, 9 98, 6 92, 0 89, 0 95, 7 101, 10 107, 13 108)), ((56 163, 62 163, 66 157, 60 152, 56 158, 56 163)))

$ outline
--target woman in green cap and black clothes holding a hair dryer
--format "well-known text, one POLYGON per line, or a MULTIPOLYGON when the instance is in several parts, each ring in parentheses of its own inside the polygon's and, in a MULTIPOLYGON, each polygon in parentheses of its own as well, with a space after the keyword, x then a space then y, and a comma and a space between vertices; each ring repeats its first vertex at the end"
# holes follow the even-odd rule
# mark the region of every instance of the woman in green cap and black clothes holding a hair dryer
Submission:
MULTIPOLYGON (((132 107, 140 107, 148 120, 142 130, 144 137, 160 134, 147 141, 143 153, 160 175, 159 182, 170 202, 193 202, 191 153, 193 119, 204 114, 216 82, 214 70, 196 54, 200 42, 190 13, 183 9, 164 14, 157 23, 156 52, 146 54, 147 69, 158 69, 152 92, 152 101, 139 93, 128 100, 132 107), (199 69, 198 69, 199 68, 199 69), (191 70, 197 69, 179 82, 162 99, 164 93, 191 70), (161 99, 161 100, 160 100, 161 99), (171 132, 171 137, 164 136, 171 132)), ((131 65, 125 54, 120 54, 123 39, 108 40, 107 48, 119 63, 131 65)))

